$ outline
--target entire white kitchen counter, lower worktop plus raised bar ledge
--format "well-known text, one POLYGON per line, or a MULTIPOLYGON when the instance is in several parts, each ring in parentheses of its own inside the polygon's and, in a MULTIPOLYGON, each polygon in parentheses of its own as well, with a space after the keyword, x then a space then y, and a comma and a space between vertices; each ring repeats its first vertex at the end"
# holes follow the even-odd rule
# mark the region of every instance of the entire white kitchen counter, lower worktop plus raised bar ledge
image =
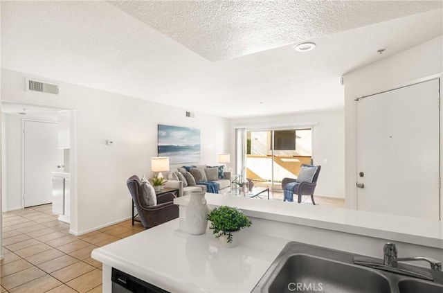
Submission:
POLYGON ((415 233, 410 235, 391 215, 386 215, 390 220, 386 224, 381 215, 338 208, 229 195, 206 194, 206 199, 210 206, 237 206, 251 217, 253 225, 242 231, 238 247, 222 247, 210 230, 201 236, 183 232, 188 197, 177 198, 179 219, 93 250, 92 257, 103 263, 103 292, 111 292, 111 267, 170 292, 251 292, 291 240, 379 258, 384 242, 394 240, 400 257, 443 260, 439 224, 418 229, 409 219, 415 233))

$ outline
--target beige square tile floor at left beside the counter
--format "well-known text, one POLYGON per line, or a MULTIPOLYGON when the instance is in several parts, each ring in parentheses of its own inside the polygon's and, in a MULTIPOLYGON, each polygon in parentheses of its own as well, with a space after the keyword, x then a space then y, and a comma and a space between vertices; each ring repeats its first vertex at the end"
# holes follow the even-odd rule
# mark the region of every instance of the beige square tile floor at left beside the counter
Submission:
POLYGON ((51 204, 3 213, 0 292, 102 292, 102 264, 91 251, 143 230, 127 220, 73 236, 51 204))

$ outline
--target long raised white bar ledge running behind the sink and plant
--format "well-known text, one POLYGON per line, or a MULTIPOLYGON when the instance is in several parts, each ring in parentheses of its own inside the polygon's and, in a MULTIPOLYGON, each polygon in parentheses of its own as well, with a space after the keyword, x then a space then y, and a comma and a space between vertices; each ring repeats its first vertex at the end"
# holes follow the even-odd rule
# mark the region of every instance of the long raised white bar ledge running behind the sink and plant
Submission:
MULTIPOLYGON (((174 203, 187 206, 189 198, 177 197, 174 203)), ((236 206, 250 217, 443 249, 441 221, 214 193, 206 193, 205 198, 211 208, 221 205, 236 206)))

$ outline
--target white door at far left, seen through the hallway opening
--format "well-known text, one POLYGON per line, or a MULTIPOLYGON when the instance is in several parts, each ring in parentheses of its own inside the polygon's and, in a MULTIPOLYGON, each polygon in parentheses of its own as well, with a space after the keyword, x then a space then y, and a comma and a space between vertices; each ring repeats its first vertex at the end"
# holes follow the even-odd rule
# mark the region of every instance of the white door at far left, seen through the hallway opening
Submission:
POLYGON ((57 123, 24 121, 24 206, 53 202, 52 174, 62 165, 57 123))

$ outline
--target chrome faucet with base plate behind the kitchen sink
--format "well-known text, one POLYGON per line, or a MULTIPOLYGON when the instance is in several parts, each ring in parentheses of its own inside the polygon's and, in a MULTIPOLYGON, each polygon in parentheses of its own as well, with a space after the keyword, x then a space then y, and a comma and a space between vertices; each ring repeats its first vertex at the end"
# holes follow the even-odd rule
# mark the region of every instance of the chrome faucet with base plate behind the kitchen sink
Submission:
POLYGON ((406 276, 414 276, 416 278, 423 278, 429 281, 433 281, 433 276, 430 272, 426 272, 423 269, 415 268, 413 266, 398 267, 398 263, 402 261, 424 260, 431 264, 431 269, 435 271, 442 271, 442 263, 433 258, 425 258, 422 256, 398 258, 397 253, 398 251, 397 247, 395 247, 395 243, 387 242, 383 247, 383 260, 379 258, 356 256, 354 257, 354 263, 356 265, 364 265, 365 267, 372 267, 374 269, 383 269, 383 271, 404 274, 406 276))

